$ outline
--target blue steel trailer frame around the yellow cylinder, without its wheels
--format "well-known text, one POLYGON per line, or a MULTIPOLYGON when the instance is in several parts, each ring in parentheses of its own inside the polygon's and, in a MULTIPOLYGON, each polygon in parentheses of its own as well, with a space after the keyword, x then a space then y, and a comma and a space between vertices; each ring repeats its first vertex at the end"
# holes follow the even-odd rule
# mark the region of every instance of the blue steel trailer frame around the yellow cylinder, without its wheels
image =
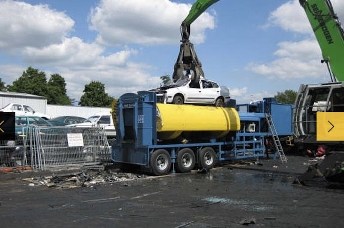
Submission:
POLYGON ((119 98, 116 110, 117 138, 111 142, 111 156, 114 162, 151 168, 151 156, 154 151, 164 149, 170 155, 171 169, 174 173, 177 153, 183 148, 190 148, 195 153, 197 164, 202 163, 200 151, 208 147, 216 152, 219 161, 243 158, 258 160, 265 154, 264 137, 269 135, 269 132, 261 132, 262 122, 265 121, 264 113, 239 112, 240 131, 230 132, 220 139, 193 142, 186 138, 174 141, 158 140, 155 92, 126 93, 119 98), (249 129, 251 126, 254 127, 254 131, 249 129))

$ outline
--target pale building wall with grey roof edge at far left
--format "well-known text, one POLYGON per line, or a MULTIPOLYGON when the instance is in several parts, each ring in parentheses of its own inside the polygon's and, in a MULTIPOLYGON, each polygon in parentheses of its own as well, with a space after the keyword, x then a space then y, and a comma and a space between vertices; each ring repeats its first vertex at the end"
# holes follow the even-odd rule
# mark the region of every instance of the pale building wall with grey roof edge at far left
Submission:
POLYGON ((26 93, 0 92, 0 108, 3 108, 9 103, 25 104, 37 112, 46 113, 47 99, 42 96, 26 93))

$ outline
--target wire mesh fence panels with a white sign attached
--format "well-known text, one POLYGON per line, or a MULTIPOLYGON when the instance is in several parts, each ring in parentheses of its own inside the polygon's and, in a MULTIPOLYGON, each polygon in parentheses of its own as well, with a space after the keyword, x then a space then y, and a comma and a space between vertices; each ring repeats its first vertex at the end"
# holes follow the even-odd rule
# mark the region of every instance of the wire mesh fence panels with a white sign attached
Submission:
POLYGON ((91 165, 110 160, 103 128, 30 127, 33 168, 91 165))

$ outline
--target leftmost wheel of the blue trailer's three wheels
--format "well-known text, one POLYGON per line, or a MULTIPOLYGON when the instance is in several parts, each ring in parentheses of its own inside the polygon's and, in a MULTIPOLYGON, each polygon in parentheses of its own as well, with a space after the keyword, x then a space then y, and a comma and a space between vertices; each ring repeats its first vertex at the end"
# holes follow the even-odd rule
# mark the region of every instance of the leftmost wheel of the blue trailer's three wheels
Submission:
POLYGON ((150 166, 154 175, 165 175, 171 169, 171 156, 165 149, 158 149, 151 155, 150 166))

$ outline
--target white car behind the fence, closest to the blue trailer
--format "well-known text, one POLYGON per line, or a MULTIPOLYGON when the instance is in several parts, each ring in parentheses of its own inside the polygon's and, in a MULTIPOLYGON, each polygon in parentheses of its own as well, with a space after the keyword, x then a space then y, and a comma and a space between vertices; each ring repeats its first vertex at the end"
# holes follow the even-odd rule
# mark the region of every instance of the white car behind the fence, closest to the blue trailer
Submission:
POLYGON ((69 124, 68 127, 79 127, 79 128, 91 128, 91 127, 103 127, 105 129, 106 137, 114 138, 116 137, 116 129, 113 124, 112 117, 109 112, 97 113, 82 123, 69 124))

